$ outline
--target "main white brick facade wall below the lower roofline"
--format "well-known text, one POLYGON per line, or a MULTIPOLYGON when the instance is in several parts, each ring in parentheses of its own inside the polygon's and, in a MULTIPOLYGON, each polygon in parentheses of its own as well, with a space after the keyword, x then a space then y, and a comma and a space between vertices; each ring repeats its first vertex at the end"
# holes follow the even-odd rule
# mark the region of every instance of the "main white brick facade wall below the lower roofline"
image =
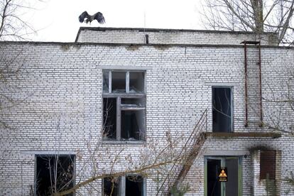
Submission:
MULTIPOLYGON (((5 123, 0 129, 0 195, 28 195, 34 184, 36 152, 75 153, 76 167, 80 170, 99 143, 93 163, 99 165, 99 171, 109 170, 111 157, 124 149, 116 165, 119 170, 148 160, 142 155, 154 154, 153 146, 156 149, 165 146, 167 131, 173 140, 189 136, 205 109, 211 131, 214 85, 234 89, 235 132, 271 131, 254 123, 244 127, 244 48, 241 47, 62 43, 1 43, 0 47, 1 69, 18 70, 16 75, 1 80, 0 85, 0 115, 5 123), (102 69, 118 67, 146 70, 146 143, 102 142, 102 69), (125 157, 131 157, 131 163, 125 157)), ((256 48, 249 51, 257 53, 256 48)), ((263 97, 271 99, 271 89, 277 95, 286 91, 283 81, 289 78, 288 70, 293 70, 293 49, 263 48, 261 55, 263 97)), ((279 117, 276 107, 273 103, 263 104, 265 120, 281 119, 285 129, 293 126, 293 113, 286 106, 279 107, 283 109, 279 117)), ((290 175, 294 166, 290 136, 208 138, 186 178, 192 189, 190 195, 203 195, 205 151, 253 151, 260 147, 281 150, 282 176, 290 175)), ((254 195, 259 195, 263 187, 261 190, 252 187, 250 154, 242 160, 243 194, 251 195, 254 191, 254 195)), ((93 174, 91 164, 87 164, 87 172, 77 175, 77 180, 93 174)), ((100 183, 98 180, 98 190, 100 183)), ((155 195, 157 184, 151 178, 146 186, 147 195, 155 195)), ((285 195, 288 188, 282 182, 281 194, 285 195)), ((86 192, 81 190, 83 195, 86 192)))

